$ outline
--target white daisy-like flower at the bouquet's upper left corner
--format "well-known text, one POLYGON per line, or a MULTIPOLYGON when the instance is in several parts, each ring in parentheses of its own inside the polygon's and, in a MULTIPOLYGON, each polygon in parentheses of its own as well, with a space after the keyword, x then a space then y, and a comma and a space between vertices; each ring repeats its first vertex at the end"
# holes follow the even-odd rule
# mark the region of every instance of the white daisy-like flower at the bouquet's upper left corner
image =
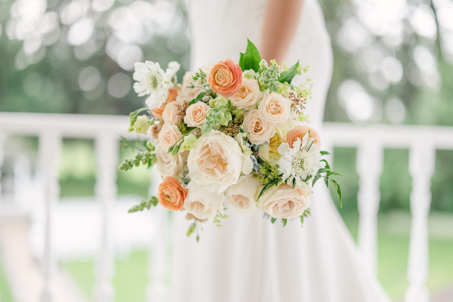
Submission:
POLYGON ((159 63, 145 61, 134 64, 132 78, 134 90, 138 96, 149 95, 145 103, 149 109, 160 107, 169 95, 169 89, 174 86, 173 81, 167 81, 167 76, 159 63))

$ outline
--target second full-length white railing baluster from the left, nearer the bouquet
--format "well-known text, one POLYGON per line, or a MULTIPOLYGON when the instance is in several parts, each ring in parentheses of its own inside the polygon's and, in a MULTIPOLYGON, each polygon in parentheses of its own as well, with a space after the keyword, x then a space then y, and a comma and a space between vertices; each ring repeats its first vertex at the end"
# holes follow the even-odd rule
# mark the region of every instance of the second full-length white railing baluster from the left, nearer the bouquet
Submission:
POLYGON ((95 301, 114 301, 112 280, 115 269, 112 211, 115 205, 118 170, 118 137, 115 133, 101 133, 96 137, 96 200, 101 207, 101 246, 95 267, 95 301))

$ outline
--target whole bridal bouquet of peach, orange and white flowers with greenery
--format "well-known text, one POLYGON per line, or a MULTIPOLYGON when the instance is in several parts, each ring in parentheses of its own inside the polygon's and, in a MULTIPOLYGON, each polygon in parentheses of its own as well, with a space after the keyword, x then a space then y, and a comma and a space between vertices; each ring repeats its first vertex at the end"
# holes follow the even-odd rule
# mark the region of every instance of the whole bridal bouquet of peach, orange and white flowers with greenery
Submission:
MULTIPOLYGON (((130 114, 129 131, 145 134, 135 158, 120 170, 157 164, 162 177, 157 197, 129 211, 160 204, 170 211, 186 211, 193 220, 187 235, 199 223, 212 219, 220 226, 226 212, 249 215, 264 211, 272 223, 310 215, 312 187, 321 177, 332 184, 341 202, 341 190, 331 177, 327 154, 307 121, 305 103, 311 84, 295 85, 306 72, 260 58, 248 41, 239 63, 227 58, 212 66, 186 72, 178 84, 178 62, 164 71, 159 63, 137 62, 133 75, 146 107, 130 114), (146 114, 145 114, 146 113, 146 114)), ((135 146, 135 147, 134 147, 135 146)), ((197 234, 197 240, 198 240, 197 234)))

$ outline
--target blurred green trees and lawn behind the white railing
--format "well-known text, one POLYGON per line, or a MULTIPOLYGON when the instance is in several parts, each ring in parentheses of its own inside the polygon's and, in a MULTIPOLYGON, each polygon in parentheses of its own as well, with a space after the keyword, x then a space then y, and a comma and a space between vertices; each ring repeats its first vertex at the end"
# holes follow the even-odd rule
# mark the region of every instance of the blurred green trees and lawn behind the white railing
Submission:
MULTIPOLYGON (((325 121, 453 126, 452 0, 321 0, 321 5, 335 62, 325 121)), ((132 89, 134 62, 181 62, 181 78, 189 41, 180 0, 0 0, 0 111, 128 115, 144 102, 132 89)), ((26 150, 30 163, 37 161, 37 138, 12 137, 5 148, 12 146, 26 150)), ((344 175, 340 213, 353 236, 355 153, 336 148, 333 160, 344 175)), ((436 155, 429 216, 433 301, 453 292, 453 151, 436 155)), ((13 169, 5 160, 3 190, 13 169)), ((149 171, 134 171, 118 172, 123 199, 147 197, 149 171)), ((93 141, 64 139, 59 174, 60 202, 79 196, 89 202, 96 180, 93 141)), ((378 276, 390 297, 402 301, 411 217, 408 150, 385 150, 380 181, 378 276)), ((145 301, 145 249, 125 249, 116 257, 116 301, 145 301)), ((94 256, 59 261, 91 299, 94 256)), ((0 292, 2 302, 14 302, 1 271, 0 292)))

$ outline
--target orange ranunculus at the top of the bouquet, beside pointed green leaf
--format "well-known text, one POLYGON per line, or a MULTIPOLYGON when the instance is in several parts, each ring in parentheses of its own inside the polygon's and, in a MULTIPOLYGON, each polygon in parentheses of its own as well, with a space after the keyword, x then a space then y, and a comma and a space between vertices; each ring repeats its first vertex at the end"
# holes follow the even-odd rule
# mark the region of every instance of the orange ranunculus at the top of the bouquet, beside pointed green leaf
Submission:
POLYGON ((242 69, 235 61, 227 58, 212 66, 207 74, 207 81, 214 92, 230 97, 241 87, 242 69))

